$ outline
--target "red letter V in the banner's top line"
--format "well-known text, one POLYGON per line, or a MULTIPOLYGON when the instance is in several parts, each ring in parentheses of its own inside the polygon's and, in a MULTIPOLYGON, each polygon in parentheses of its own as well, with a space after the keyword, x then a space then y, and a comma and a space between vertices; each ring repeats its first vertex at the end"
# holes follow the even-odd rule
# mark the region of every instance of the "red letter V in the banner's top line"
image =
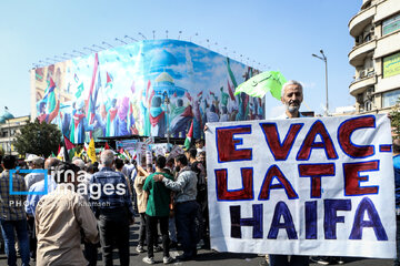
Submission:
POLYGON ((303 124, 291 124, 283 143, 280 142, 276 123, 262 123, 260 125, 274 160, 287 160, 289 152, 293 146, 294 140, 303 124))

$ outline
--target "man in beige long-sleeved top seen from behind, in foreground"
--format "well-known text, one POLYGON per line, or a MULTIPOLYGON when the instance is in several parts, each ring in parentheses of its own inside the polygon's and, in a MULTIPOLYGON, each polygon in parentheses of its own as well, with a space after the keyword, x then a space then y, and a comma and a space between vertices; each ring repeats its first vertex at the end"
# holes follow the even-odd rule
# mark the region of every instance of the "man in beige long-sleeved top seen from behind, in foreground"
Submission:
POLYGON ((40 198, 36 208, 37 265, 87 265, 81 234, 98 242, 96 217, 88 202, 74 192, 79 168, 63 163, 56 171, 57 188, 40 198))

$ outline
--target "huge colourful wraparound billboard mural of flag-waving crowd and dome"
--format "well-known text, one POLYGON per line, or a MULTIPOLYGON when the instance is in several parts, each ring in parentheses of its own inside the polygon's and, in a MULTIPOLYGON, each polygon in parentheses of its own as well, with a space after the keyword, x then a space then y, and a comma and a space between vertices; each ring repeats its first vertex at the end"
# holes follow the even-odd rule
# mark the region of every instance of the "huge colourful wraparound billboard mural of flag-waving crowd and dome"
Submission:
POLYGON ((234 96, 258 71, 191 42, 141 41, 32 70, 32 114, 73 143, 90 137, 203 136, 207 122, 264 119, 263 99, 234 96))

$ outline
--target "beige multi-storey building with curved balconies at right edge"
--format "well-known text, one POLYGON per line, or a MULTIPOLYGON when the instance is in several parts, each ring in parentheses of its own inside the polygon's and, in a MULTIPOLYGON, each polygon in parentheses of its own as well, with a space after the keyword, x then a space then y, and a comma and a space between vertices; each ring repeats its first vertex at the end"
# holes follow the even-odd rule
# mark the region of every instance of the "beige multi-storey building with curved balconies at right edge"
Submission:
POLYGON ((358 113, 387 113, 400 96, 400 0, 362 0, 349 22, 358 113))

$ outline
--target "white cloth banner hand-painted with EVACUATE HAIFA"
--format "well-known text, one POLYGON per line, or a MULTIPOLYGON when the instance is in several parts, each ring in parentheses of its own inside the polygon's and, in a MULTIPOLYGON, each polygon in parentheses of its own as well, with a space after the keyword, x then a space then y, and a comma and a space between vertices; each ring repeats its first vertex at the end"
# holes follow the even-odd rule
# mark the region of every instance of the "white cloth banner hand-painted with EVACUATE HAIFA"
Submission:
POLYGON ((394 258, 386 115, 209 123, 211 248, 394 258))

